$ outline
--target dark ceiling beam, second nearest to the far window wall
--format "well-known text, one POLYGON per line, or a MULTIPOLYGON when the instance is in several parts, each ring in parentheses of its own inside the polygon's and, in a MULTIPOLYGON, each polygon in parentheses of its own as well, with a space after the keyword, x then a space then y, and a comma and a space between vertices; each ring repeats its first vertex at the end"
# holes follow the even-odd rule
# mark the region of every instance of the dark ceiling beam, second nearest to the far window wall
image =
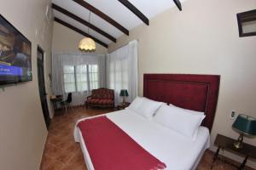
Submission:
POLYGON ((102 36, 104 37, 108 37, 108 39, 110 39, 113 42, 116 42, 116 38, 110 36, 107 32, 102 31, 100 28, 93 26, 92 24, 90 24, 89 22, 87 22, 86 20, 83 20, 81 18, 79 18, 77 15, 72 14, 71 12, 67 11, 65 8, 61 8, 58 5, 55 5, 55 3, 52 3, 52 8, 54 8, 55 10, 61 12, 62 14, 66 14, 67 16, 69 16, 70 18, 72 18, 73 20, 77 20, 79 21, 81 24, 83 24, 84 26, 88 26, 90 27, 90 29, 102 34, 102 36))

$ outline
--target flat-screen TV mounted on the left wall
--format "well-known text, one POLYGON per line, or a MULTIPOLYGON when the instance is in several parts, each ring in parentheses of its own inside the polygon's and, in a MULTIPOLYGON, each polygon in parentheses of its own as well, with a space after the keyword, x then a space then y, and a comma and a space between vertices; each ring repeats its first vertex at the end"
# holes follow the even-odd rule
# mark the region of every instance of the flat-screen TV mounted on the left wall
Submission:
POLYGON ((31 46, 0 14, 0 85, 32 81, 31 46))

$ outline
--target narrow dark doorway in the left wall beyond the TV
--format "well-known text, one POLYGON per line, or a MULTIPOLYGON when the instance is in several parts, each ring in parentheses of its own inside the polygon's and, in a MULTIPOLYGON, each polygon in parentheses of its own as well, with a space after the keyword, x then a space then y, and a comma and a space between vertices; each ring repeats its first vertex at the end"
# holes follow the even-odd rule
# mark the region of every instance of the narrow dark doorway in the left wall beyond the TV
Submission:
POLYGON ((38 47, 38 88, 41 99, 42 110, 44 114, 44 122, 48 129, 50 123, 49 110, 47 104, 47 94, 44 83, 44 50, 38 47))

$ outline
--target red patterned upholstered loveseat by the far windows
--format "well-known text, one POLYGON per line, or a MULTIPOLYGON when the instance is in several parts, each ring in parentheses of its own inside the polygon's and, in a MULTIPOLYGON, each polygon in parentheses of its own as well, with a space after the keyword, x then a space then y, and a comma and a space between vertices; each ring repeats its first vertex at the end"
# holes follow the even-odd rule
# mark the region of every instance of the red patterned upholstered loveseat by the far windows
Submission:
POLYGON ((93 89, 91 95, 85 101, 86 108, 92 107, 112 107, 114 108, 114 92, 112 89, 93 89))

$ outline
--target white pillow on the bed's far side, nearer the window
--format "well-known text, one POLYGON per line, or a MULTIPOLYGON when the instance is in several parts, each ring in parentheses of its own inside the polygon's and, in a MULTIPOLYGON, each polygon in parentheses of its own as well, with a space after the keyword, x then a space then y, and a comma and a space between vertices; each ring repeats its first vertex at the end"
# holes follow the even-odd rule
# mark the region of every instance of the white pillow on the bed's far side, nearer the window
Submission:
POLYGON ((160 108, 160 105, 164 105, 163 102, 154 101, 152 99, 137 97, 129 105, 127 109, 135 111, 138 115, 152 120, 154 113, 160 108))

